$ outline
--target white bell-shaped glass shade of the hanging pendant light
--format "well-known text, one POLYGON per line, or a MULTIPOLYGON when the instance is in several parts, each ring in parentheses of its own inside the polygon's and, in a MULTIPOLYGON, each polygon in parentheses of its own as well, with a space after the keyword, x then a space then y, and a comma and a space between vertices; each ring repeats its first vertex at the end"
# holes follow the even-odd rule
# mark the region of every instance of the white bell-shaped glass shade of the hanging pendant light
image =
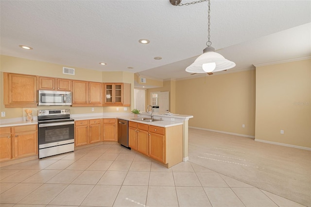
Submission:
POLYGON ((187 72, 192 73, 206 73, 217 72, 235 67, 235 63, 225 59, 225 57, 217 52, 215 49, 208 46, 203 50, 196 60, 186 68, 187 72))

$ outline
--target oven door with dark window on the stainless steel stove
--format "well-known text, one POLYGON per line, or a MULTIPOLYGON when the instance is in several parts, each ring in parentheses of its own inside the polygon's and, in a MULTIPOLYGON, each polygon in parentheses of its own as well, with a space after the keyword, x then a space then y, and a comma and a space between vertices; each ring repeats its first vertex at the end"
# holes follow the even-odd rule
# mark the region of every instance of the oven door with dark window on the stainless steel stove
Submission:
POLYGON ((74 143, 74 121, 39 123, 39 149, 74 143))

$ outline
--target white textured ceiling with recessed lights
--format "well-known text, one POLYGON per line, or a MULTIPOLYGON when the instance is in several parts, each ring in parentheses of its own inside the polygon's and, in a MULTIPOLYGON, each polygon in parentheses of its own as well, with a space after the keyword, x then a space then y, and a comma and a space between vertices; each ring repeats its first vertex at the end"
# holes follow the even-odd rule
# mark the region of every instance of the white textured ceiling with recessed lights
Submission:
MULTIPOLYGON (((1 0, 0 12, 1 54, 157 79, 189 77, 207 41, 207 2, 1 0)), ((310 0, 211 0, 210 15, 212 46, 232 70, 311 55, 310 0)))

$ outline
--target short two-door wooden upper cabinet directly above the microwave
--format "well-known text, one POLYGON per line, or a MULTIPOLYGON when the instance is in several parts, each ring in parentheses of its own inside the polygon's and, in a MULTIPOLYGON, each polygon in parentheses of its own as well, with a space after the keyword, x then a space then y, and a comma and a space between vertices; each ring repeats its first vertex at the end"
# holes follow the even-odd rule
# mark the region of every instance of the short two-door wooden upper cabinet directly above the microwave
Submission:
POLYGON ((69 79, 38 77, 38 81, 39 90, 72 90, 72 81, 69 79))

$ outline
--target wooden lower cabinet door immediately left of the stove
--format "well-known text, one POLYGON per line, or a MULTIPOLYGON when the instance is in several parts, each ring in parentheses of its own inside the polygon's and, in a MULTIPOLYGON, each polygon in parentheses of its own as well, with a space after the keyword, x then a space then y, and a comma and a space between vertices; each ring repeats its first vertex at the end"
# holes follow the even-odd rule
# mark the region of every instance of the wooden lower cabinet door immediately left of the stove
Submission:
POLYGON ((13 127, 14 158, 38 155, 37 125, 13 127))

